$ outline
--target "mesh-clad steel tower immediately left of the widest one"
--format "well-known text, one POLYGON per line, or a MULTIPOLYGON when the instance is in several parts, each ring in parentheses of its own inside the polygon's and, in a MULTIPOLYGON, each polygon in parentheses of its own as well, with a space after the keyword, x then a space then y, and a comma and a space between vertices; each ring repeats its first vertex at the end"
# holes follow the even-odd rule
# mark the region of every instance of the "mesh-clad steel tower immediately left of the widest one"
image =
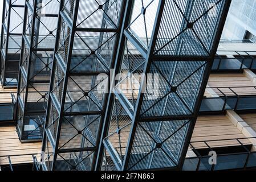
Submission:
POLYGON ((94 169, 108 93, 99 87, 113 68, 124 1, 60 2, 58 35, 46 114, 54 147, 47 170, 94 169), (104 76, 99 78, 99 74, 104 76))

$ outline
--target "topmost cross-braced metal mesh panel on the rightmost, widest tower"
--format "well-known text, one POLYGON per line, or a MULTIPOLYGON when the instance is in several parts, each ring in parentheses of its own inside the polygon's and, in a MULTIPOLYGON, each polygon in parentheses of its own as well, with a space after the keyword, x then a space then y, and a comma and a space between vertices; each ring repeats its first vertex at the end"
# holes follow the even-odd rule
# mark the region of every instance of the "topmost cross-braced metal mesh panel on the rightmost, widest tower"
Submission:
POLYGON ((163 10, 155 53, 208 56, 213 48, 223 4, 219 0, 171 1, 163 10), (177 18, 166 22, 167 17, 177 18), (172 26, 174 23, 176 26, 172 26))

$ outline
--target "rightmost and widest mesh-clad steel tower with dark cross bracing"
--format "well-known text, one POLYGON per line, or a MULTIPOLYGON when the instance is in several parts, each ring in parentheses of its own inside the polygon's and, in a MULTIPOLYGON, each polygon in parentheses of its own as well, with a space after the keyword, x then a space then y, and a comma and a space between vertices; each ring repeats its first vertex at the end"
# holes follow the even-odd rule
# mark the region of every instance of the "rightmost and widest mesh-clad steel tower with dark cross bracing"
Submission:
POLYGON ((127 3, 96 169, 182 167, 229 5, 127 3))

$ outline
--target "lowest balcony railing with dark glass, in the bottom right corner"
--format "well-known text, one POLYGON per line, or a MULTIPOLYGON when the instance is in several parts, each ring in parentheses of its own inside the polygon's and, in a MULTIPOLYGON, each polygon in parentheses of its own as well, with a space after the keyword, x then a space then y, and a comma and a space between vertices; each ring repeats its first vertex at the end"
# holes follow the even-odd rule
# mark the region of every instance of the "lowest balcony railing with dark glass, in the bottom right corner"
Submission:
MULTIPOLYGON (((256 137, 251 138, 236 138, 236 139, 221 139, 221 140, 207 140, 207 141, 197 141, 190 142, 190 147, 192 151, 196 154, 194 157, 186 158, 183 166, 183 171, 221 171, 228 169, 246 169, 256 167, 256 151, 250 151, 251 139, 256 139, 256 137), (221 142, 234 142, 232 146, 226 144, 227 152, 221 152, 222 154, 217 154, 217 150, 224 149, 221 147, 212 147, 211 143, 221 143, 221 142), (246 142, 246 143, 245 143, 246 142), (194 147, 196 144, 204 144, 205 148, 194 147), (250 144, 249 144, 250 143, 250 144), (228 152, 231 147, 239 147, 239 151, 235 150, 228 152), (210 163, 212 161, 213 155, 201 155, 200 150, 214 151, 216 152, 216 162, 210 163)), ((221 145, 221 144, 220 144, 221 145)), ((231 149, 232 150, 232 149, 231 149)))

